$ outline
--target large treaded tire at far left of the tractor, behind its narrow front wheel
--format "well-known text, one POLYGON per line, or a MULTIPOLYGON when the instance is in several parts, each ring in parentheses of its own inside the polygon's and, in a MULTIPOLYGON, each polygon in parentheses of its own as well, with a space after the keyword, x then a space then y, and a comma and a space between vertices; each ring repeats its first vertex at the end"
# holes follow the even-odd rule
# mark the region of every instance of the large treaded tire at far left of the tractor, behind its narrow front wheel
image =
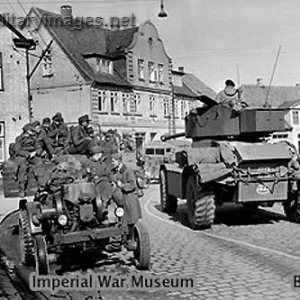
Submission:
POLYGON ((34 240, 29 232, 27 210, 21 210, 19 214, 19 243, 21 263, 34 266, 34 240))

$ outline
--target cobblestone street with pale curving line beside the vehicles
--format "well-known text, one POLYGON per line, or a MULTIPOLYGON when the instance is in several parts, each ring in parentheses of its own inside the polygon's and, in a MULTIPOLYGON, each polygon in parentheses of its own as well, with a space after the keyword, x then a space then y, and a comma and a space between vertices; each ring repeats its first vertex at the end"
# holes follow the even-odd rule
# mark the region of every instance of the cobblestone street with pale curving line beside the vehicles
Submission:
MULTIPOLYGON (((218 210, 212 229, 194 231, 186 225, 184 202, 176 215, 167 215, 159 211, 158 194, 154 185, 142 198, 152 246, 150 271, 136 271, 126 252, 121 258, 112 254, 108 263, 93 271, 190 276, 196 278, 197 287, 176 292, 103 291, 103 299, 300 298, 300 290, 292 288, 293 275, 300 274, 299 225, 285 221, 280 206, 257 212, 227 207, 218 210)), ((9 234, 2 232, 4 243, 9 234)), ((84 297, 73 295, 78 300, 84 297)))

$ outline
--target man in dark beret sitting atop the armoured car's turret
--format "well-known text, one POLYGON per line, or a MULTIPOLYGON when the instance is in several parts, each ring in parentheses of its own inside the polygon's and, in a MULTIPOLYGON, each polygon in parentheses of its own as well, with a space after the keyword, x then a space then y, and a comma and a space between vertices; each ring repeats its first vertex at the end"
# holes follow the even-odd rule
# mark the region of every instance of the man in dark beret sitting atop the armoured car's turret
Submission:
POLYGON ((225 81, 225 89, 218 93, 216 101, 233 109, 242 107, 242 91, 235 88, 235 83, 231 79, 225 81))

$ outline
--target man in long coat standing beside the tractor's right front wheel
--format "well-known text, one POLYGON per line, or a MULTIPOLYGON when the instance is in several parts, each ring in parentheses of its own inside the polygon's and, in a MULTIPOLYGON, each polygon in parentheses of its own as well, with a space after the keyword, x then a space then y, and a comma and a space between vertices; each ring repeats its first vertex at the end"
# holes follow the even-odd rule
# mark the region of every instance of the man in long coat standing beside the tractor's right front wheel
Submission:
POLYGON ((137 195, 136 177, 134 171, 122 162, 119 153, 111 156, 114 169, 114 185, 118 186, 124 196, 125 222, 128 226, 128 250, 135 250, 137 243, 134 237, 134 225, 142 218, 141 206, 137 195))

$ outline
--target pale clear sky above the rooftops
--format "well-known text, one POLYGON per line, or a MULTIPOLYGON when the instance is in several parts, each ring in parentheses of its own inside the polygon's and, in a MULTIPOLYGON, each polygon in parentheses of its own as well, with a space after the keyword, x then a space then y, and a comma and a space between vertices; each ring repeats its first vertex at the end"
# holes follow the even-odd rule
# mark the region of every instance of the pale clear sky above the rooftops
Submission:
POLYGON ((183 66, 218 92, 228 78, 240 84, 269 85, 279 52, 273 85, 300 83, 299 0, 0 0, 1 12, 23 16, 31 6, 74 16, 136 16, 137 25, 151 20, 174 68, 183 66), (239 74, 239 76, 238 76, 239 74))

